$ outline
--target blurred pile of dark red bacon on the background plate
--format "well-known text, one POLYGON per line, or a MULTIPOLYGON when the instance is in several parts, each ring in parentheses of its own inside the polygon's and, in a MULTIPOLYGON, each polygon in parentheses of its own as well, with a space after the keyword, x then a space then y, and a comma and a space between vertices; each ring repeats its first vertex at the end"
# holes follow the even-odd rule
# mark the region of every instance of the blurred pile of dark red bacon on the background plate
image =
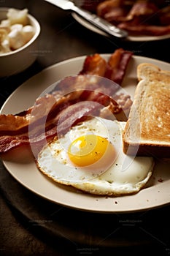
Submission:
POLYGON ((165 1, 106 0, 97 5, 96 14, 132 35, 170 33, 170 7, 165 1))

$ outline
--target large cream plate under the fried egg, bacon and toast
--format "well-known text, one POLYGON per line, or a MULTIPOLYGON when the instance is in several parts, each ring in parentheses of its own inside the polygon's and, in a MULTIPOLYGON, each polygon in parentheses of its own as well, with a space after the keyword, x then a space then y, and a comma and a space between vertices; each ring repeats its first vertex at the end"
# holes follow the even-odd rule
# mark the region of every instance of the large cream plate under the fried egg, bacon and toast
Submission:
MULTIPOLYGON (((108 54, 102 56, 106 59, 109 57, 108 54)), ((67 75, 77 75, 80 69, 82 69, 84 59, 85 56, 81 56, 63 61, 48 67, 30 78, 7 99, 1 109, 1 113, 18 113, 30 107, 34 104, 36 97, 52 83, 67 75)), ((132 98, 136 87, 136 67, 142 62, 150 62, 162 69, 170 69, 170 64, 166 62, 133 56, 128 64, 123 80, 123 87, 131 94, 132 98)), ((55 184, 55 182, 39 172, 33 160, 31 162, 4 161, 4 165, 20 184, 23 184, 23 186, 37 195, 62 206, 82 211, 127 213, 144 211, 170 203, 170 171, 168 162, 160 161, 156 164, 150 182, 139 193, 123 197, 88 195, 76 189, 55 184)))

